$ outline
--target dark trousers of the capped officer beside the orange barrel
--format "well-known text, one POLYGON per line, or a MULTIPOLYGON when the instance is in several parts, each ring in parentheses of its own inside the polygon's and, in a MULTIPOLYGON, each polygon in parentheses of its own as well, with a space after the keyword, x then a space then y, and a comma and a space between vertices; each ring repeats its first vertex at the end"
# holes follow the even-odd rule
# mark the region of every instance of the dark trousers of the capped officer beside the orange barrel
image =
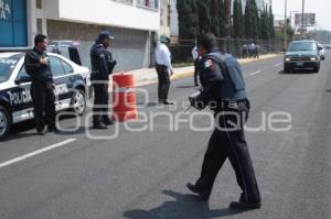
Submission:
POLYGON ((93 83, 94 106, 93 106, 93 124, 99 124, 109 120, 108 107, 108 81, 93 83))

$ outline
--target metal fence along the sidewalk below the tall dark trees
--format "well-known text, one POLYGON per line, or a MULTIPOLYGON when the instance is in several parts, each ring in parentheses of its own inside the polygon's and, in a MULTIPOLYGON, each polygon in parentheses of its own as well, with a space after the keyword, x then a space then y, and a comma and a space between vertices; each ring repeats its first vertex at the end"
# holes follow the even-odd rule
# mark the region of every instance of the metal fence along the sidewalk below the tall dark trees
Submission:
MULTIPOLYGON (((253 42, 252 40, 234 40, 234 39, 217 39, 218 47, 227 53, 231 53, 235 57, 245 58, 248 57, 247 44, 253 42)), ((282 51, 282 41, 254 41, 258 45, 258 53, 278 53, 282 51)), ((192 62, 192 50, 195 46, 195 40, 180 40, 178 44, 171 44, 169 46, 172 55, 173 63, 186 63, 192 62)))

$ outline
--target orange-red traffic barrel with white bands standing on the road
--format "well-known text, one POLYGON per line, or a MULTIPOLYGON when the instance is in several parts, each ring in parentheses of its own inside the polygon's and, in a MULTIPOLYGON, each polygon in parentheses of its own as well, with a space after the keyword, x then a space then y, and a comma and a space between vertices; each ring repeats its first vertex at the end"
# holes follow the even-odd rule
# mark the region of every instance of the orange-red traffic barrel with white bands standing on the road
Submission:
POLYGON ((113 118, 119 122, 138 119, 132 74, 113 75, 113 118))

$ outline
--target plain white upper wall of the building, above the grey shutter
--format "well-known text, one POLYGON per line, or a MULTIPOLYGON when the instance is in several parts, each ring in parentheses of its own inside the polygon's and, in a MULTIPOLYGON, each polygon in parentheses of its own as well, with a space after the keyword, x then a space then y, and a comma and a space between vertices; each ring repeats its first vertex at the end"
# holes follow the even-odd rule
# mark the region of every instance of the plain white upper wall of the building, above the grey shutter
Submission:
POLYGON ((128 3, 119 0, 44 0, 44 14, 52 20, 158 31, 158 1, 134 0, 128 3))

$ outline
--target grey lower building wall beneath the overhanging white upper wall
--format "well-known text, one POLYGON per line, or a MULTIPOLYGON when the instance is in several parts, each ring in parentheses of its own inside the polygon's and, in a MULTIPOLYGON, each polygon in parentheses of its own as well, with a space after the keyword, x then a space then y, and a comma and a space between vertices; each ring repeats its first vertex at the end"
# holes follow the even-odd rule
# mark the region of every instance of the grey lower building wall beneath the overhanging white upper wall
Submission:
POLYGON ((117 59, 115 72, 149 67, 151 54, 148 31, 47 20, 50 41, 78 41, 82 63, 88 67, 90 67, 89 48, 104 29, 109 30, 115 36, 110 45, 113 56, 117 59))

